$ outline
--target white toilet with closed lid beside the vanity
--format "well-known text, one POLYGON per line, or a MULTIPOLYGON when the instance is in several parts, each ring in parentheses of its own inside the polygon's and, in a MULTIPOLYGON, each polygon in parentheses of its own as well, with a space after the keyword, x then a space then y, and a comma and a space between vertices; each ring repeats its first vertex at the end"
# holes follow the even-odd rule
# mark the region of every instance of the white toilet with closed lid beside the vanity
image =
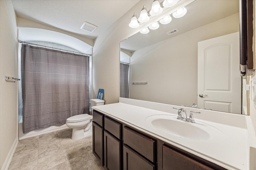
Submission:
MULTIPOLYGON (((104 100, 91 99, 91 106, 104 105, 104 100)), ((72 139, 79 140, 92 135, 92 115, 80 114, 69 117, 66 125, 72 128, 72 139)))

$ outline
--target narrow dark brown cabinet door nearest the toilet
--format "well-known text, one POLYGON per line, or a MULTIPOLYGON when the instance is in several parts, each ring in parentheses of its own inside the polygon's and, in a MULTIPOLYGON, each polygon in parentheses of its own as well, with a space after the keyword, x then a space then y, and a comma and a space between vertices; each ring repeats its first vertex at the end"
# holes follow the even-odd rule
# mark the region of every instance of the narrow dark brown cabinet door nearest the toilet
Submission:
POLYGON ((92 152, 103 166, 103 128, 94 122, 92 122, 92 152))

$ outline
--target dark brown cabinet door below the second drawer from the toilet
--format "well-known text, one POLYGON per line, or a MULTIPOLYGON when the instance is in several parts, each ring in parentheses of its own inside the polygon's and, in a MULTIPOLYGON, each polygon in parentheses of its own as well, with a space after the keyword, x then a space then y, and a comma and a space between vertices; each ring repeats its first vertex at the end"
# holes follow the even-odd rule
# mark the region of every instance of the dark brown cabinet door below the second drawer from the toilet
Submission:
POLYGON ((118 139, 104 131, 104 168, 107 170, 121 169, 121 144, 118 139))

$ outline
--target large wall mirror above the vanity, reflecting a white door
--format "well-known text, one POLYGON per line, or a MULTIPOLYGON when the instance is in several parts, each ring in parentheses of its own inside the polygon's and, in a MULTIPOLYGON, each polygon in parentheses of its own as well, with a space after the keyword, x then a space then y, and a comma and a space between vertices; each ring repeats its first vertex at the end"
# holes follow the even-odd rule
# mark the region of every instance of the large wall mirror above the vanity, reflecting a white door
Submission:
POLYGON ((244 113, 239 1, 195 0, 186 9, 120 42, 120 97, 244 113))

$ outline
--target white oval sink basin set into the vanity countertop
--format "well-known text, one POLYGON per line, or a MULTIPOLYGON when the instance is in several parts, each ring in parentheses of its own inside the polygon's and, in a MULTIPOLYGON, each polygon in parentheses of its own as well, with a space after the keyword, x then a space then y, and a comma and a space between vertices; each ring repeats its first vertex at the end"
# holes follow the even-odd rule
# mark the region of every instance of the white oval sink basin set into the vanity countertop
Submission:
POLYGON ((172 115, 152 115, 146 118, 146 123, 158 132, 188 140, 222 141, 224 139, 224 134, 211 125, 200 121, 196 123, 181 121, 172 115))

